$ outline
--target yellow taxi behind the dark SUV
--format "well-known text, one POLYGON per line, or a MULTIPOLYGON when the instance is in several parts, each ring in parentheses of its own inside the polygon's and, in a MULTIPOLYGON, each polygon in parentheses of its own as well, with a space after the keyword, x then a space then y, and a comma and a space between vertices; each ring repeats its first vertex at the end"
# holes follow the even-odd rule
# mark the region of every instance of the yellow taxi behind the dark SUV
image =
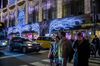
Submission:
POLYGON ((49 49, 51 47, 53 39, 51 37, 40 36, 37 38, 36 42, 40 44, 43 49, 49 49))

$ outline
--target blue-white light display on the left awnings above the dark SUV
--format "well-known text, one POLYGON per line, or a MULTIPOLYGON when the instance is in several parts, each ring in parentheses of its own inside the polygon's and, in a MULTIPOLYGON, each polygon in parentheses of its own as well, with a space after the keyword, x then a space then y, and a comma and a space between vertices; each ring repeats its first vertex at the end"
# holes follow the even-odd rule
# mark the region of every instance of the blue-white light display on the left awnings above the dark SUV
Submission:
POLYGON ((38 34, 40 34, 40 27, 38 23, 33 23, 31 25, 17 25, 17 26, 8 28, 8 34, 16 33, 16 32, 19 32, 21 34, 23 31, 35 31, 38 34))

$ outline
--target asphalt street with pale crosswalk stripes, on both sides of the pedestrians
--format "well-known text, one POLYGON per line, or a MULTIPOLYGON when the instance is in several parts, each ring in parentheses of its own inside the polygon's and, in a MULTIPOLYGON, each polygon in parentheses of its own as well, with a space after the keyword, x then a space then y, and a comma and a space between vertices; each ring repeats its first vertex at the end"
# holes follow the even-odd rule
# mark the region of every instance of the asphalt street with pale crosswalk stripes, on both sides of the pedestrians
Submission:
MULTIPOLYGON (((50 66, 48 50, 28 54, 4 51, 4 54, 5 56, 0 56, 0 66, 50 66)), ((89 65, 100 66, 100 57, 90 58, 89 65)), ((73 61, 68 66, 73 66, 73 61)))

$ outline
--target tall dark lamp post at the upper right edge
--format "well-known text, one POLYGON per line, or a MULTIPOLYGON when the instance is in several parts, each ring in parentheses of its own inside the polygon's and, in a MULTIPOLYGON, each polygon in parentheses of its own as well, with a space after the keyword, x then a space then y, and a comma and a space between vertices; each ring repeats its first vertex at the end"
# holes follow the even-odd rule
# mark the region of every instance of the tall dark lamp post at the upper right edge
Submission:
POLYGON ((96 3, 92 0, 92 11, 93 11, 93 33, 96 35, 96 3))

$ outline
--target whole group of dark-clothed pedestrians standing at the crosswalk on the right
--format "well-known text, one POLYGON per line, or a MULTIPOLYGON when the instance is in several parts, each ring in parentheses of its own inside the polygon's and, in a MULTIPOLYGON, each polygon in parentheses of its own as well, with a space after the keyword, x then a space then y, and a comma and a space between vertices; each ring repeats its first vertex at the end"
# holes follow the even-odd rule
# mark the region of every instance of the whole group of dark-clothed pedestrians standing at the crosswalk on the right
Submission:
POLYGON ((82 32, 77 33, 77 39, 66 38, 65 32, 58 32, 52 38, 48 58, 51 66, 67 66, 73 60, 73 66, 89 66, 91 54, 100 55, 100 40, 97 36, 92 41, 82 32), (93 49, 94 48, 94 49, 93 49))

